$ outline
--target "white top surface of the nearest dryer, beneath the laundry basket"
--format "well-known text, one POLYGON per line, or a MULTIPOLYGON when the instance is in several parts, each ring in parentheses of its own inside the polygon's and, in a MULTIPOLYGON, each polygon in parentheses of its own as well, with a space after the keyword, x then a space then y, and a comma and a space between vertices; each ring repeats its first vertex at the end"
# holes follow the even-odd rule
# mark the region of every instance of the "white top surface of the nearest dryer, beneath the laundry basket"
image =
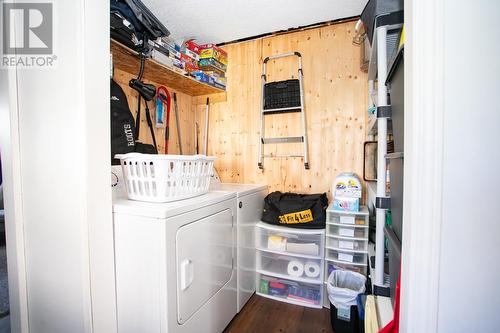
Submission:
POLYGON ((113 213, 165 219, 236 197, 235 192, 211 191, 198 197, 167 203, 128 200, 125 193, 113 198, 113 213))

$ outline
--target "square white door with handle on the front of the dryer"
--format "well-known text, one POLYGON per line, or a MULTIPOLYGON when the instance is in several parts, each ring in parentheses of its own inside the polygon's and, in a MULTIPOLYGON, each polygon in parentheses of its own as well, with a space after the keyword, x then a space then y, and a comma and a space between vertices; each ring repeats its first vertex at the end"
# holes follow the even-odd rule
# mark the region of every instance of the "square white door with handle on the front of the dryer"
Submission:
POLYGON ((177 254, 177 321, 183 324, 231 279, 233 216, 223 210, 179 228, 177 254))

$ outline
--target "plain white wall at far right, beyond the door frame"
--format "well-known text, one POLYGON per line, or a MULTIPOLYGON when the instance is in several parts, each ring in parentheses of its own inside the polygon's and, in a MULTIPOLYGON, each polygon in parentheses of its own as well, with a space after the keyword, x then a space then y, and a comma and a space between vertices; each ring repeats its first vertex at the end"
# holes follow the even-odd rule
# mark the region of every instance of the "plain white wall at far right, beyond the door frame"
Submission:
POLYGON ((445 1, 439 332, 500 327, 500 2, 445 1))

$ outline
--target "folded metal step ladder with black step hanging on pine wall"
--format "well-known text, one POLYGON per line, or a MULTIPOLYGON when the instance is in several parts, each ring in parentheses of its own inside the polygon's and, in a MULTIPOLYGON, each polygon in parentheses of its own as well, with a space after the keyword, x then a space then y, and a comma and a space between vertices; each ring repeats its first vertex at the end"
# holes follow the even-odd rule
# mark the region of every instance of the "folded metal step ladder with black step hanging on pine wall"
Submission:
POLYGON ((264 169, 264 158, 265 157, 302 157, 304 158, 304 167, 309 169, 309 154, 307 149, 307 128, 306 128, 306 117, 304 110, 304 86, 302 83, 302 56, 299 52, 290 52, 284 54, 277 54, 264 59, 262 64, 262 101, 261 101, 261 116, 260 116, 260 141, 259 141, 259 169, 264 169), (298 69, 298 79, 286 80, 267 83, 266 82, 266 64, 269 60, 280 59, 286 57, 298 57, 299 58, 299 69, 298 69), (297 88, 298 89, 294 89, 297 88), (271 100, 269 96, 272 91, 275 93, 274 100, 271 100), (299 92, 300 98, 297 98, 296 92, 299 92), (287 94, 288 92, 288 94, 287 94), (290 95, 291 94, 291 95, 290 95), (302 121, 302 136, 288 136, 288 137, 278 137, 278 138, 266 138, 265 137, 265 118, 272 114, 283 114, 300 112, 302 121), (264 145, 265 144, 277 144, 277 143, 303 143, 303 152, 289 153, 289 154, 265 154, 264 145))

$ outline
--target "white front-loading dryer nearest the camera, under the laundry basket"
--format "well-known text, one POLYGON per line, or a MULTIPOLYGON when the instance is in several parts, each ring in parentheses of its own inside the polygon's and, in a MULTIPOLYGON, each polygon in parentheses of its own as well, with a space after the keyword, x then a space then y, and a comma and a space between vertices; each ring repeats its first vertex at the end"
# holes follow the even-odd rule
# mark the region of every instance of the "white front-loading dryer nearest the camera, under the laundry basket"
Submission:
POLYGON ((224 330, 236 315, 236 194, 114 198, 118 331, 224 330))

